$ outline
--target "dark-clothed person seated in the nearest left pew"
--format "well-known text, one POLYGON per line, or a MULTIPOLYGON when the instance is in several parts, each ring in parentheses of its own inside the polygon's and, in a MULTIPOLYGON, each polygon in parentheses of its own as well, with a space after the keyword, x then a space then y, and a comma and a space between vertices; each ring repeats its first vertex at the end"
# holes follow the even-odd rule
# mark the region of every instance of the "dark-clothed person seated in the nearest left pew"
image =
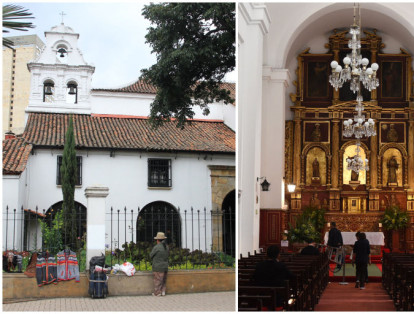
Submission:
MULTIPOLYGON (((295 275, 282 262, 277 259, 280 249, 276 245, 267 248, 268 259, 256 264, 253 274, 253 284, 266 287, 283 287, 285 280, 295 277, 295 275)), ((283 306, 283 300, 277 298, 277 307, 283 306)))

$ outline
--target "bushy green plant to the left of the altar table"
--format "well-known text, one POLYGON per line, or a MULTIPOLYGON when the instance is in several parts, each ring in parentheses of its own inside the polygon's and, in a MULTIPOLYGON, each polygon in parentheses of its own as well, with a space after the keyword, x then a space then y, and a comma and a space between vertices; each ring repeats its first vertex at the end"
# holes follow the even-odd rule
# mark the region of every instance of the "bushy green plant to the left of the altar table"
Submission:
POLYGON ((295 226, 289 223, 286 236, 289 243, 292 243, 293 250, 299 251, 306 246, 306 242, 309 240, 320 243, 324 225, 325 210, 314 207, 306 208, 296 218, 295 226))

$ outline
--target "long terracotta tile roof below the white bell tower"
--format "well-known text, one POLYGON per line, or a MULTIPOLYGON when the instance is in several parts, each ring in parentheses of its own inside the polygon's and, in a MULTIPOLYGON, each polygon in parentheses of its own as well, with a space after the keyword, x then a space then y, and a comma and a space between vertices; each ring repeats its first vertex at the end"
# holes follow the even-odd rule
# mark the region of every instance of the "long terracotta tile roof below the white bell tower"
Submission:
MULTIPOLYGON (((144 117, 72 117, 77 148, 235 153, 235 132, 222 121, 193 120, 181 130, 175 122, 152 129, 144 117)), ((23 137, 33 145, 63 147, 68 121, 68 114, 31 113, 23 137)))

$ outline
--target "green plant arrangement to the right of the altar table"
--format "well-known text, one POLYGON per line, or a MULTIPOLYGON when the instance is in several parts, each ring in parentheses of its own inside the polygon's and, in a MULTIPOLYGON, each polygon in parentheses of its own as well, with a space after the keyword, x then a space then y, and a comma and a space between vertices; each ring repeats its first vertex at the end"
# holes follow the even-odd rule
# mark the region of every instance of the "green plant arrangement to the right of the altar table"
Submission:
POLYGON ((390 231, 392 234, 391 248, 396 252, 400 248, 400 230, 404 229, 408 224, 408 214, 402 211, 398 206, 393 205, 385 209, 384 216, 380 220, 384 230, 390 231))

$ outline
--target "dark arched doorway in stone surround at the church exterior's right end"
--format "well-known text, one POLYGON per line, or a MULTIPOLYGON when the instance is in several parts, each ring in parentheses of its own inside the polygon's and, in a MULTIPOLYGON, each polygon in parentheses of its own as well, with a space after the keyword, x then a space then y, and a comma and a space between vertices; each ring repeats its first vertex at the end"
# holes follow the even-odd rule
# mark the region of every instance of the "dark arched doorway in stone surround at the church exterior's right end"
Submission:
POLYGON ((223 200, 223 252, 235 257, 236 252, 236 190, 231 191, 223 200))

